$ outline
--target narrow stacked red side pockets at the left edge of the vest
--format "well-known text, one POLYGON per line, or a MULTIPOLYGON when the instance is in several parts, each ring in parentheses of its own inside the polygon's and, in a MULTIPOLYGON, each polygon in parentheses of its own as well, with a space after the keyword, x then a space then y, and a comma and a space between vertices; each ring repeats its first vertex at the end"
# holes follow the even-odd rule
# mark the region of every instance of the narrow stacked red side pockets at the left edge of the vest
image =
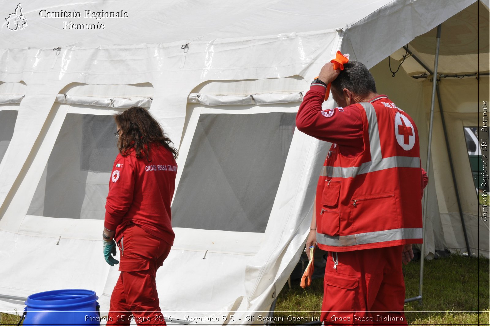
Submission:
POLYGON ((340 181, 325 180, 321 195, 320 213, 317 215, 317 232, 328 236, 340 234, 340 181))

